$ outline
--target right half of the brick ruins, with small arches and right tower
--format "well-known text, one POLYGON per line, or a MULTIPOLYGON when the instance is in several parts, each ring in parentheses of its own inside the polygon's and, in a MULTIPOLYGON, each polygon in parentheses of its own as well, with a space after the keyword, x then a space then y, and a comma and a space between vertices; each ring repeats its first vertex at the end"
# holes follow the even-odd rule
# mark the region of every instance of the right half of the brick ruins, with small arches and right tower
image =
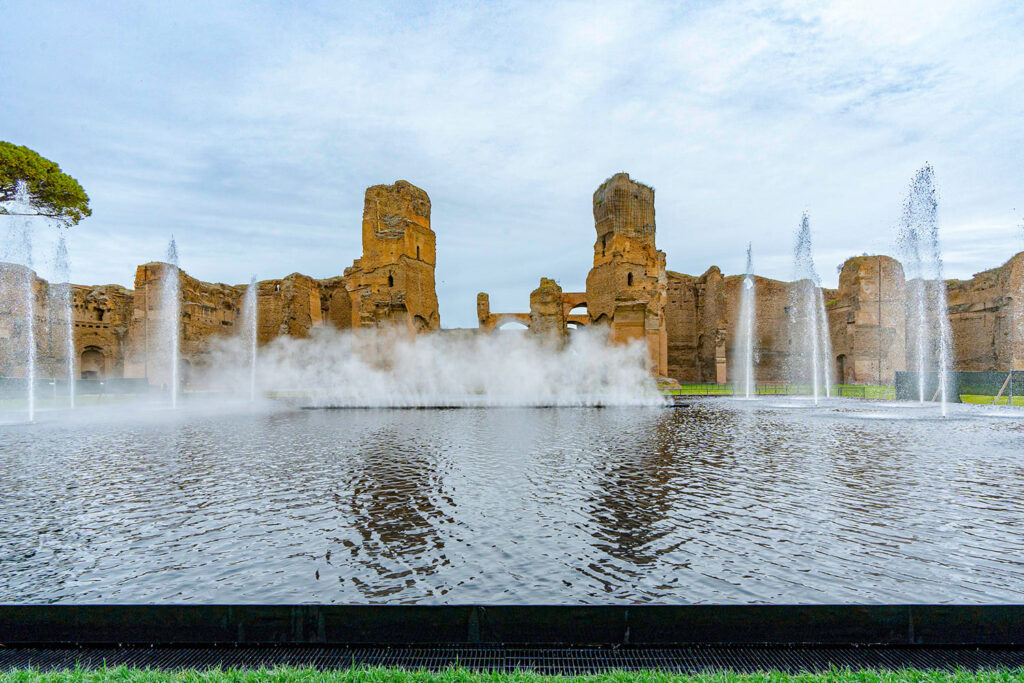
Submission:
MULTIPOLYGON (((561 293, 542 279, 530 310, 492 312, 477 295, 479 330, 520 321, 530 332, 564 338, 577 325, 605 325, 615 342, 643 339, 651 372, 680 382, 736 379, 736 326, 742 275, 712 266, 701 275, 666 270, 654 244, 654 190, 618 173, 594 193, 594 266, 584 293, 561 293), (556 294, 557 293, 557 294, 556 294), (551 305, 563 301, 561 318, 551 305), (569 314, 587 306, 586 314, 569 314)), ((791 336, 792 283, 754 278, 761 383, 784 383, 795 340, 791 336)), ((972 280, 949 281, 954 369, 1024 370, 1024 253, 972 280)), ((907 369, 906 282, 899 261, 857 256, 842 266, 839 289, 823 289, 835 353, 834 376, 843 384, 890 384, 907 369)))

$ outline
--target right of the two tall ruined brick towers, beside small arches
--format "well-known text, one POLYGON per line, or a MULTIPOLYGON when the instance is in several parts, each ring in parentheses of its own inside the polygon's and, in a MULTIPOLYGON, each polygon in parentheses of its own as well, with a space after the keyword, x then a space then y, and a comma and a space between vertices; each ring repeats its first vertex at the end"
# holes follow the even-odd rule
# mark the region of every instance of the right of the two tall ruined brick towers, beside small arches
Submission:
POLYGON ((651 371, 668 374, 665 252, 654 246, 654 189, 616 173, 594 193, 594 267, 587 309, 613 342, 643 339, 651 371))

